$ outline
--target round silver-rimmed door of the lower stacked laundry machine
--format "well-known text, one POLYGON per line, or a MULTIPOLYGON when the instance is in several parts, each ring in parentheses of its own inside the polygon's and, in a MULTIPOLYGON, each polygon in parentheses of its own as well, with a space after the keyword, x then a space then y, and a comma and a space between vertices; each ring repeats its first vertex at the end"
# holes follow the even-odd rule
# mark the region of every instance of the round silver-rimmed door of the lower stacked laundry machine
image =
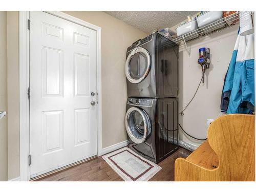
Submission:
POLYGON ((129 137, 135 143, 144 142, 151 134, 151 123, 147 113, 132 107, 126 112, 125 127, 129 137))

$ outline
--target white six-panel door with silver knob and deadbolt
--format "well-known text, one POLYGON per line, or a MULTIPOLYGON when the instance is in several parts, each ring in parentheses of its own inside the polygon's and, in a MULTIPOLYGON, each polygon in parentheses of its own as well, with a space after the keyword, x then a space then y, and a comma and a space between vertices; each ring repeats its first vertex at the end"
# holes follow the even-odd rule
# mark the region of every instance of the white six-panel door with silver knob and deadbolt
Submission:
POLYGON ((33 178, 97 154, 96 31, 45 12, 30 20, 33 178))

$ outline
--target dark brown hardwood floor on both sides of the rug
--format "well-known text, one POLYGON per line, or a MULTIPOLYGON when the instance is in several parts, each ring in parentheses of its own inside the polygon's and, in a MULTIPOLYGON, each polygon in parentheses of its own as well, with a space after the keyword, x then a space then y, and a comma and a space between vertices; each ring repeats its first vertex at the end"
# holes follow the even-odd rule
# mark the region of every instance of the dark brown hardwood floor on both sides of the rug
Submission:
MULTIPOLYGON (((177 152, 158 164, 162 169, 150 181, 174 181, 175 160, 178 157, 186 158, 190 153, 180 147, 177 152)), ((123 181, 123 179, 101 157, 96 157, 35 181, 123 181)))

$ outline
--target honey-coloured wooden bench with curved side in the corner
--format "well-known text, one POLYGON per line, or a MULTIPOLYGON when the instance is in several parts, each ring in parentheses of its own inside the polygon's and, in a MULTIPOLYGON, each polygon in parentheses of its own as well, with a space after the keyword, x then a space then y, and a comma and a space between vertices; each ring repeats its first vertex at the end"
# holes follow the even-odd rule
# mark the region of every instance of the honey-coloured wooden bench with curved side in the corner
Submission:
POLYGON ((175 181, 254 181, 254 115, 221 116, 207 138, 186 159, 176 159, 175 181))

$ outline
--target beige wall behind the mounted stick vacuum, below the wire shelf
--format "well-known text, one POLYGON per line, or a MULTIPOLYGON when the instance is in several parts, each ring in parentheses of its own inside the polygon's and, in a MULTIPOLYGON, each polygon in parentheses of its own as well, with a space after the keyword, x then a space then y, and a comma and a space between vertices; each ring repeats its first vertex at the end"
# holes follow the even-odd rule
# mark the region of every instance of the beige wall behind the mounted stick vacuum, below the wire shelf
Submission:
MULTIPOLYGON (((201 84, 196 97, 184 112, 179 115, 179 122, 190 135, 205 138, 207 134, 206 120, 216 119, 220 113, 221 92, 224 77, 231 59, 237 38, 238 26, 204 37, 188 44, 191 56, 180 49, 179 76, 179 111, 181 112, 193 97, 202 77, 201 66, 198 65, 199 49, 210 48, 211 64, 206 70, 205 83, 201 84)), ((180 130, 180 140, 199 145, 201 142, 183 134, 180 130)))

